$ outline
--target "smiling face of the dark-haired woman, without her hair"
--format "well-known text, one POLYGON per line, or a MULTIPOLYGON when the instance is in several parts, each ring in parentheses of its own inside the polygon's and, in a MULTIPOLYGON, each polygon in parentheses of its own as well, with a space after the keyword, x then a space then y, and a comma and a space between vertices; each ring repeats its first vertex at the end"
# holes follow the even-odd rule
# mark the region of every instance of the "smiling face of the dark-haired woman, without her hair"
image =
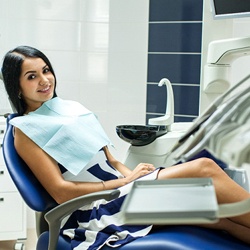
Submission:
POLYGON ((20 76, 20 96, 27 104, 25 113, 39 108, 54 95, 55 77, 41 58, 25 58, 20 76))

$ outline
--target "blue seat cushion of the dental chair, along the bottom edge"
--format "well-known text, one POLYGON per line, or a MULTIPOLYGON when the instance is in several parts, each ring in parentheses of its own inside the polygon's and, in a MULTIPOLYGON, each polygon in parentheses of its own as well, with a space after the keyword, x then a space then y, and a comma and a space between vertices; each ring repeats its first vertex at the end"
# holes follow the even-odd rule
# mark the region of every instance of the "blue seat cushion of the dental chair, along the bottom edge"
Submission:
MULTIPOLYGON (((225 232, 195 226, 169 226, 139 238, 116 250, 203 250, 241 249, 250 250, 247 245, 225 232)), ((48 249, 48 232, 43 233, 37 243, 37 250, 48 249)), ((104 246, 102 250, 111 250, 104 246)), ((59 237, 57 250, 71 250, 70 241, 59 237)))

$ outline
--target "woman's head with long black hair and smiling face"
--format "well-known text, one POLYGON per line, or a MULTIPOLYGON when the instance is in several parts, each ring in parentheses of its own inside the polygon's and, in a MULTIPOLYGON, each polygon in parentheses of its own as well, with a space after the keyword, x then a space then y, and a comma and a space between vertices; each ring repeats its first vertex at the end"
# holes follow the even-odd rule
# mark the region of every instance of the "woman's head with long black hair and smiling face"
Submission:
POLYGON ((53 67, 41 51, 19 46, 6 54, 3 65, 4 85, 19 115, 34 111, 57 96, 53 67))

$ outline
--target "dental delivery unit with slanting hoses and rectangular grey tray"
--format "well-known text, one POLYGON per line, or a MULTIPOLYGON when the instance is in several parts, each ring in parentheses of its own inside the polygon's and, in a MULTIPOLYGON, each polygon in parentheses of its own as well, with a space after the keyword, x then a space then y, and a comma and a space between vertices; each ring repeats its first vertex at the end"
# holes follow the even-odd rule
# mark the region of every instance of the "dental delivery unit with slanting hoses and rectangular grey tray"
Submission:
MULTIPOLYGON (((245 163, 250 164, 250 86, 246 81, 249 77, 212 104, 209 108, 212 112, 206 113, 205 119, 198 119, 198 127, 194 123, 195 129, 191 127, 192 132, 187 131, 188 136, 184 134, 185 140, 177 142, 177 146, 173 147, 167 157, 173 154, 172 160, 184 162, 207 149, 228 165, 241 167, 245 163), (244 84, 245 88, 239 91, 239 86, 243 87, 244 84), (182 144, 187 144, 187 147, 183 149, 182 144)), ((159 138, 162 137, 164 136, 159 138)), ((224 171, 249 190, 244 169, 227 167, 224 171)), ((250 211, 250 199, 232 204, 217 204, 213 183, 210 181, 210 178, 182 178, 135 183, 122 207, 125 222, 170 225, 215 223, 220 218, 250 211), (142 198, 145 193, 146 198, 142 198)))

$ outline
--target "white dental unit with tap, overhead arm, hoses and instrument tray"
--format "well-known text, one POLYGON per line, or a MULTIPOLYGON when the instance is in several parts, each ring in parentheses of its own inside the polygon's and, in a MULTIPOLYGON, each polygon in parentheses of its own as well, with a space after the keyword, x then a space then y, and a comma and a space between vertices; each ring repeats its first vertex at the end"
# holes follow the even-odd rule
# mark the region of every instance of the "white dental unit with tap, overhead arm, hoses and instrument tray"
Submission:
MULTIPOLYGON (((178 162, 191 160, 206 150, 224 162, 224 171, 249 191, 247 173, 242 166, 250 164, 250 75, 231 88, 229 81, 232 61, 249 54, 248 37, 214 41, 209 45, 203 91, 207 94, 221 95, 192 123, 174 123, 174 120, 171 120, 171 83, 166 78, 162 79, 159 86, 166 84, 168 93, 166 114, 163 117, 149 119, 148 126, 165 125, 168 129, 165 134, 142 147, 131 143, 125 164, 132 167, 148 161, 155 166, 169 167, 178 162)), ((244 204, 218 205, 212 186, 209 180, 199 178, 155 183, 139 182, 134 184, 132 192, 125 200, 122 208, 124 217, 128 223, 213 223, 219 218, 250 211, 250 199, 244 201, 244 204), (208 189, 205 190, 204 187, 208 189), (138 197, 143 197, 145 192, 147 198, 139 199, 138 197), (202 194, 206 197, 204 201, 201 201, 202 194), (166 199, 162 200, 161 197, 166 199), (153 202, 149 204, 148 199, 152 199, 153 202), (166 202, 169 199, 171 204, 166 202), (185 202, 180 204, 180 201, 185 202), (203 204, 206 204, 205 207, 203 204)))

